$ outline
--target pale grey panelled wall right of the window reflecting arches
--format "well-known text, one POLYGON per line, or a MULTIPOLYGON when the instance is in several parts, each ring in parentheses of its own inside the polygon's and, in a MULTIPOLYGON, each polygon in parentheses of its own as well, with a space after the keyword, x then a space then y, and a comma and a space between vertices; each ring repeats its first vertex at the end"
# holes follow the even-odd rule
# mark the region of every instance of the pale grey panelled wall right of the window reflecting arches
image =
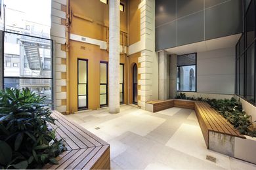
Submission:
POLYGON ((197 56, 197 92, 234 94, 235 48, 199 52, 197 56))

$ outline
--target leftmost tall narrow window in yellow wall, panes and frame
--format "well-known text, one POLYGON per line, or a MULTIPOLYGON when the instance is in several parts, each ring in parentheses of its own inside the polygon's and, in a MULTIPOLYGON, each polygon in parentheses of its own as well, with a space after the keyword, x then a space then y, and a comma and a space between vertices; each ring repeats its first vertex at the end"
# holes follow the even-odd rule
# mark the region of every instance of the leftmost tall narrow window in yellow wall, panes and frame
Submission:
POLYGON ((87 59, 78 59, 78 110, 88 108, 88 61, 87 59))

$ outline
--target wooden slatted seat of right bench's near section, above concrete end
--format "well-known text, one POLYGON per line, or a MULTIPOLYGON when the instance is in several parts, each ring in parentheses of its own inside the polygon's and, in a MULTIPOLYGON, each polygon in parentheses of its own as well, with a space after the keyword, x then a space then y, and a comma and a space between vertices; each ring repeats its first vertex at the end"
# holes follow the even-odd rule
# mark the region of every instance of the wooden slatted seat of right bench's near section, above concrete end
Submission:
POLYGON ((208 103, 196 101, 195 111, 207 148, 209 148, 209 131, 214 131, 233 137, 242 137, 245 139, 244 135, 240 135, 240 132, 235 129, 234 126, 232 126, 232 124, 230 124, 225 118, 223 118, 219 112, 211 108, 208 103))

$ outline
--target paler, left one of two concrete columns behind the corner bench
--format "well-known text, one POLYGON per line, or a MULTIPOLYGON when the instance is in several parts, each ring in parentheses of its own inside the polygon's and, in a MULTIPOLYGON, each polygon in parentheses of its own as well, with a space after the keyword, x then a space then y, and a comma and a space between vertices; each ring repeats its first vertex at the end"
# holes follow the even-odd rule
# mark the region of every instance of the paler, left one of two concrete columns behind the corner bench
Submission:
POLYGON ((159 99, 170 97, 170 59, 167 51, 159 52, 159 99))

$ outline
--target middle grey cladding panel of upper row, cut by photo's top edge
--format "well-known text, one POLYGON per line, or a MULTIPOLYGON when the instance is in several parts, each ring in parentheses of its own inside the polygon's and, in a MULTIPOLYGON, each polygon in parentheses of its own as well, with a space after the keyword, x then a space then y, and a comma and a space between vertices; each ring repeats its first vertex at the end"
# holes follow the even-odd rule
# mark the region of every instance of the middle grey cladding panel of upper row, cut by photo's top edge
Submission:
POLYGON ((203 0, 177 0, 177 18, 203 10, 203 0))

